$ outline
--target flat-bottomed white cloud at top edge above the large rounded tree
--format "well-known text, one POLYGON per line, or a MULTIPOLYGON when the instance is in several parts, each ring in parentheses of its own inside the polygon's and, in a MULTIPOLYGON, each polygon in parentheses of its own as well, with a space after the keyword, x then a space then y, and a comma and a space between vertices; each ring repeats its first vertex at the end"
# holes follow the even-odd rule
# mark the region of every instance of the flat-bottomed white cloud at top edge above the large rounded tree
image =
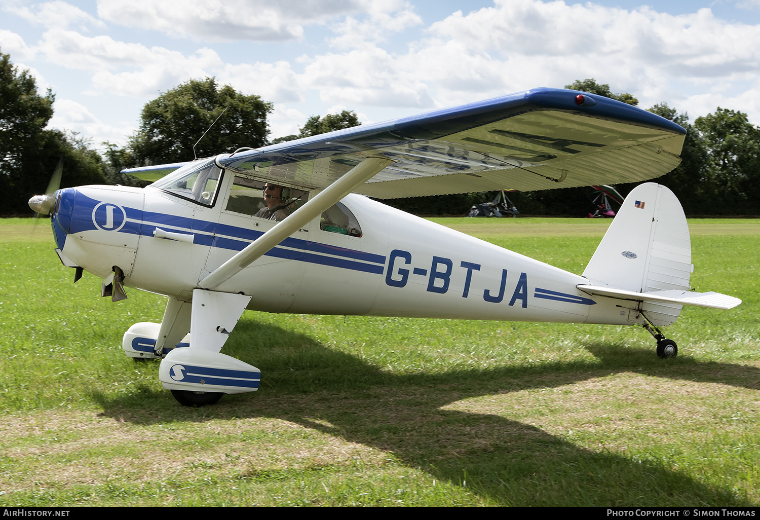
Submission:
POLYGON ((360 11, 363 0, 98 0, 113 24, 194 40, 300 39, 303 26, 360 11))

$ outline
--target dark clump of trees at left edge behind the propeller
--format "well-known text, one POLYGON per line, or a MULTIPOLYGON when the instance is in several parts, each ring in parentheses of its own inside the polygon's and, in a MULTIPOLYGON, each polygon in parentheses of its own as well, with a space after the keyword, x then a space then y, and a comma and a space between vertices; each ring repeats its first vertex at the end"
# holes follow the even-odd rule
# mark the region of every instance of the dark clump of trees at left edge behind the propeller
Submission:
POLYGON ((55 96, 37 93, 29 71, 0 53, 0 214, 31 214, 27 201, 45 192, 63 157, 61 187, 103 183, 100 155, 71 132, 46 128, 55 96))

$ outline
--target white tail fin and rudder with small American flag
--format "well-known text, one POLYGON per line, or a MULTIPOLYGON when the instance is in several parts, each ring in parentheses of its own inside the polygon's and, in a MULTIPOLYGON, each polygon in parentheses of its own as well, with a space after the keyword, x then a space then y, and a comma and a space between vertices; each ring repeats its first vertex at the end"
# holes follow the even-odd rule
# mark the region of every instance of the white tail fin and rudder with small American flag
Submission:
MULTIPOLYGON (((647 182, 635 187, 588 262, 589 284, 634 293, 689 290, 692 241, 681 203, 670 189, 647 182)), ((677 303, 644 302, 655 325, 670 325, 677 303)))

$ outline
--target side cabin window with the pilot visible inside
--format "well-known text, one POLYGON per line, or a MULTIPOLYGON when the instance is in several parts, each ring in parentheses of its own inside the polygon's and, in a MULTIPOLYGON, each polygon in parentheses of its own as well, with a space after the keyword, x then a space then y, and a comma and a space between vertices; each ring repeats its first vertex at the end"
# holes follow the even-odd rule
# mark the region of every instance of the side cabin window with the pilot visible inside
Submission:
POLYGON ((300 189, 237 174, 224 209, 266 220, 283 220, 300 208, 308 197, 309 192, 300 189))

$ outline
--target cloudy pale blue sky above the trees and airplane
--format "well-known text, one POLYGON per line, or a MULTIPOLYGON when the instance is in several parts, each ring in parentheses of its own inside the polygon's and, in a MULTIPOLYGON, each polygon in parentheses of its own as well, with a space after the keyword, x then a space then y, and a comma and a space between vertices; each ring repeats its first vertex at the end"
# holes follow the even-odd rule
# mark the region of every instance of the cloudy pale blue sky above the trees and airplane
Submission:
POLYGON ((760 125, 760 0, 0 0, 0 52, 55 94, 50 126, 123 145, 148 101, 213 76, 363 123, 594 78, 693 121, 760 125))

